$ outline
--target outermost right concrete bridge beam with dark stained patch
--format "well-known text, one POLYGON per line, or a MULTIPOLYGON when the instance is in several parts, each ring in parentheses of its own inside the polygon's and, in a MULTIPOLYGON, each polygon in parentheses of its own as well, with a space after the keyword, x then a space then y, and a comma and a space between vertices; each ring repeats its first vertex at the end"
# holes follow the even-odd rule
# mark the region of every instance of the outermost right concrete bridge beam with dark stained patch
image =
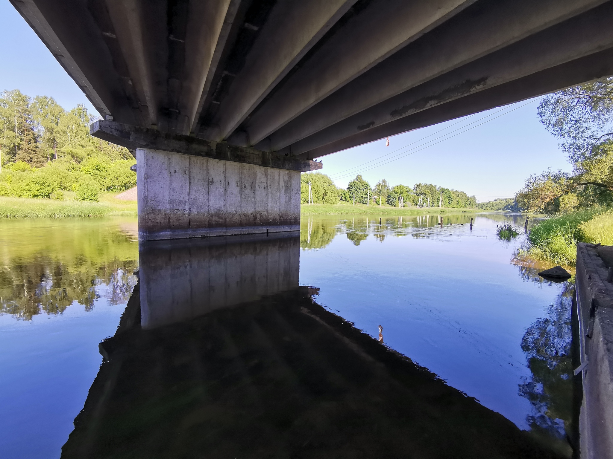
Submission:
MULTIPOLYGON (((604 13, 613 14, 613 5, 601 6, 538 34, 530 35, 503 50, 488 54, 349 116, 313 135, 295 141, 291 144, 291 154, 300 155, 332 143, 339 136, 346 138, 395 119, 429 110, 441 103, 613 48, 613 29, 608 26, 610 21, 604 13)), ((612 73, 613 65, 609 67, 611 70, 598 76, 612 73)), ((573 81, 576 80, 569 80, 568 84, 573 81)), ((552 86, 552 90, 556 88, 558 87, 552 86)), ((290 148, 286 147, 281 151, 289 152, 290 148)))

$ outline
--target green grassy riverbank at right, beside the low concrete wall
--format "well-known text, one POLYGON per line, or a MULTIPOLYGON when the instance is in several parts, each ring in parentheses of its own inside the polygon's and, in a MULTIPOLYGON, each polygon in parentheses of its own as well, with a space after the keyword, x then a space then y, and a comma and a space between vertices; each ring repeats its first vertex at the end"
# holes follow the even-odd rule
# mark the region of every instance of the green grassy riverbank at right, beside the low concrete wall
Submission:
POLYGON ((573 266, 577 242, 613 245, 613 210, 592 207, 559 217, 548 218, 531 228, 526 255, 573 266))

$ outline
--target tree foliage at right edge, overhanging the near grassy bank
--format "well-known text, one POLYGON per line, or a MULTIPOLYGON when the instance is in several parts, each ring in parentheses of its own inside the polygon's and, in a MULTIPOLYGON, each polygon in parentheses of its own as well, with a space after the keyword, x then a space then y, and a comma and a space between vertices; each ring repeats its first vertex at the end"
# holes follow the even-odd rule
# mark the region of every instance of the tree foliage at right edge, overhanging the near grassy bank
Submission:
POLYGON ((562 140, 573 171, 528 177, 516 194, 529 212, 570 212, 613 200, 613 77, 547 95, 538 107, 546 129, 562 140))

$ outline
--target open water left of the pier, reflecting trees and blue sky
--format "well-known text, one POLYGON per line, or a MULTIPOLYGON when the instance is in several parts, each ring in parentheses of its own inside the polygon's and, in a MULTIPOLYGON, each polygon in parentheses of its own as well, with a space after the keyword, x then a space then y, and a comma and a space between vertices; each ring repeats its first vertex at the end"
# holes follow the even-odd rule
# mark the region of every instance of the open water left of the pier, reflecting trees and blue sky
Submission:
POLYGON ((134 223, 0 222, 2 458, 59 457, 137 282, 134 223))

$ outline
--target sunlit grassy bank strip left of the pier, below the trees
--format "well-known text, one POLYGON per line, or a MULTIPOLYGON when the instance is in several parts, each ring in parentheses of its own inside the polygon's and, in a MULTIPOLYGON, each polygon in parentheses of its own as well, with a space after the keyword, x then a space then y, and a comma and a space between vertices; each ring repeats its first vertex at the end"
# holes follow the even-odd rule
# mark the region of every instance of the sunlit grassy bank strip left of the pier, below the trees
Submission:
POLYGON ((0 218, 61 218, 103 217, 105 215, 136 215, 135 201, 115 199, 115 193, 101 193, 97 203, 70 199, 10 198, 0 196, 0 218))

